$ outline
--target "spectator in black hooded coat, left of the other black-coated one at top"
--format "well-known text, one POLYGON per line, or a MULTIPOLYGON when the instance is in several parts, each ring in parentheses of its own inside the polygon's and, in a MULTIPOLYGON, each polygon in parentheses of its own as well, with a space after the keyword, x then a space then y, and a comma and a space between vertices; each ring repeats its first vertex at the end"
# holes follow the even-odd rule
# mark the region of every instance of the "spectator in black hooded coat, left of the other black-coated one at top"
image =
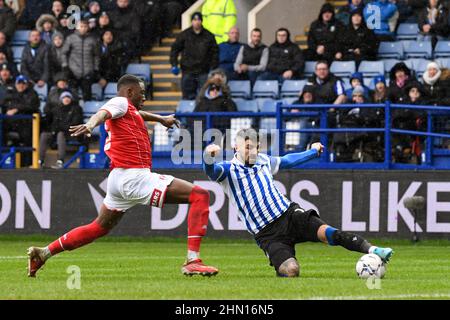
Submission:
POLYGON ((325 3, 319 18, 309 27, 307 60, 331 62, 337 51, 338 35, 343 30, 344 25, 334 17, 334 7, 325 3))

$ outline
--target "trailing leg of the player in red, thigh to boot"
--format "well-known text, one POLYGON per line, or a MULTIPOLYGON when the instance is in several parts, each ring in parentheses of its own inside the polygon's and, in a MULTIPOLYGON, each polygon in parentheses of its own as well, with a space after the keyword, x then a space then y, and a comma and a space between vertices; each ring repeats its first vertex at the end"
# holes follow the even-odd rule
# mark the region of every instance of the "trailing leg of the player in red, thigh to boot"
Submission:
POLYGON ((102 205, 99 216, 90 224, 75 228, 44 248, 28 249, 28 276, 34 277, 50 257, 85 246, 111 231, 122 218, 123 211, 113 211, 102 205))

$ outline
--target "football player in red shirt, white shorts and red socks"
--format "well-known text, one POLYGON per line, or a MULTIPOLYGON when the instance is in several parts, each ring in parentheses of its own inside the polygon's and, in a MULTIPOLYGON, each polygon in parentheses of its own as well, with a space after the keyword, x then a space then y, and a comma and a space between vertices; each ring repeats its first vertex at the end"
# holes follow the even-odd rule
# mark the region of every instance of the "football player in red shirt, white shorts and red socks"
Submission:
POLYGON ((99 216, 90 224, 75 228, 46 247, 28 249, 28 276, 52 256, 82 247, 105 236, 124 213, 137 204, 162 207, 165 203, 189 203, 188 253, 182 273, 211 276, 215 267, 203 264, 200 243, 206 233, 209 216, 208 191, 190 182, 151 171, 151 147, 145 121, 159 122, 167 128, 179 125, 173 115, 160 116, 140 110, 145 101, 141 81, 124 75, 117 84, 118 96, 109 100, 86 124, 70 128, 72 136, 90 135, 105 123, 108 138, 105 152, 111 159, 107 194, 99 216))

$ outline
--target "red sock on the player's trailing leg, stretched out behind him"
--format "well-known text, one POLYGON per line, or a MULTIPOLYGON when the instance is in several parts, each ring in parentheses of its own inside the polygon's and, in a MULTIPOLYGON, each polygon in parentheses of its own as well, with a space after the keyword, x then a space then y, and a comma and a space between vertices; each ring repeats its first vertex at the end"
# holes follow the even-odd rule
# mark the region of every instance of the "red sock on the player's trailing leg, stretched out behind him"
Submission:
POLYGON ((102 228, 97 220, 85 226, 75 228, 48 245, 52 256, 65 250, 74 250, 103 237, 109 230, 102 228))

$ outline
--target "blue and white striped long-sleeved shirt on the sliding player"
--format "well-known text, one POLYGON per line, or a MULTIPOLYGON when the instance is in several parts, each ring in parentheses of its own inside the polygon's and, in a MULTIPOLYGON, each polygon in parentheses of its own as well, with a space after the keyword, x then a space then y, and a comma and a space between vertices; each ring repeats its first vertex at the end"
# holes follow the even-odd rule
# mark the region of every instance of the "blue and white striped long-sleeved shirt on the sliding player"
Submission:
POLYGON ((316 150, 270 157, 259 153, 253 166, 246 166, 235 155, 233 160, 205 164, 205 172, 219 182, 232 203, 239 209, 247 230, 256 235, 278 219, 291 204, 274 184, 273 175, 280 168, 292 168, 317 156, 316 150))

